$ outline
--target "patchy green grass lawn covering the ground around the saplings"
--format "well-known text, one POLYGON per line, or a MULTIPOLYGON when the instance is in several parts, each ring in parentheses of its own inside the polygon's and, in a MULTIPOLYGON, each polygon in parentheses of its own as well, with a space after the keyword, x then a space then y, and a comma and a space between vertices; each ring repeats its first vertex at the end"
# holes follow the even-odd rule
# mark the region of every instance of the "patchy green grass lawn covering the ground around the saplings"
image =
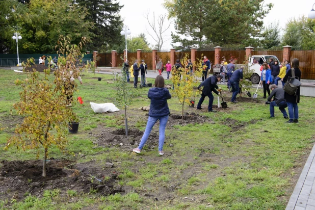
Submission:
MULTIPOLYGON (((185 106, 187 120, 170 117, 164 156, 158 155, 156 125, 143 152, 136 154, 131 149, 139 144, 136 137, 146 125, 147 112, 139 108, 150 104, 148 88, 137 90, 139 96, 127 110, 129 128, 138 135, 125 138, 123 111, 95 114, 90 107, 89 102, 115 103, 115 86, 111 83, 114 76, 96 76, 102 80, 92 78, 92 73, 83 75, 83 85, 78 85, 79 91, 74 95, 84 101, 73 106, 81 119, 78 134, 67 136, 65 152, 56 147, 49 150, 48 167, 59 163, 62 178, 56 175, 37 180, 41 174, 35 172, 32 178, 23 172, 13 176, 17 166, 40 164, 43 153, 36 161, 35 150, 22 151, 14 146, 0 150, 1 208, 285 209, 314 143, 314 98, 301 97, 299 124, 285 124, 278 109, 276 117, 270 119, 261 89, 258 100, 244 94, 247 98, 240 100, 243 102, 228 103, 228 109, 217 109, 217 113, 206 112, 206 98, 201 111, 185 106), (107 163, 113 167, 107 167, 107 163), (13 169, 5 170, 6 164, 12 164, 13 169)), ((1 147, 13 135, 15 124, 23 120, 14 110, 10 114, 10 109, 21 91, 14 80, 25 77, 23 73, 0 69, 1 147)), ((154 84, 151 78, 148 82, 154 84)), ((225 86, 223 89, 229 101, 231 94, 225 86)), ((255 89, 250 92, 253 94, 255 89)), ((171 115, 180 115, 180 104, 171 94, 171 115)), ((218 104, 216 98, 214 104, 218 104)))

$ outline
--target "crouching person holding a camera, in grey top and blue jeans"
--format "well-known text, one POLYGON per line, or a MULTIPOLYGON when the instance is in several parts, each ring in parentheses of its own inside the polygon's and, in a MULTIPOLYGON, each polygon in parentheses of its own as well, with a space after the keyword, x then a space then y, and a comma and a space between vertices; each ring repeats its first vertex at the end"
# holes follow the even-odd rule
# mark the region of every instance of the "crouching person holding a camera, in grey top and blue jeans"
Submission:
POLYGON ((285 108, 287 108, 287 104, 284 99, 284 90, 282 88, 278 88, 275 84, 271 85, 270 89, 272 90, 272 92, 268 97, 268 101, 266 101, 266 104, 270 104, 270 118, 275 117, 275 107, 279 107, 279 110, 283 114, 283 118, 288 119, 285 111, 285 108))

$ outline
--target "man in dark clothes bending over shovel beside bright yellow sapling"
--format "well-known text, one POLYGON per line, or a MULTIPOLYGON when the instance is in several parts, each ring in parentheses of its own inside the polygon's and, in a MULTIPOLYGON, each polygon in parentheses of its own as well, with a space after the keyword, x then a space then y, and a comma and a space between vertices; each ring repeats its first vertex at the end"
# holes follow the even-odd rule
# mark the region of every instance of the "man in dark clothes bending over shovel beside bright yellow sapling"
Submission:
POLYGON ((219 94, 219 92, 216 89, 219 89, 217 83, 220 82, 221 79, 222 79, 222 76, 220 74, 218 74, 217 76, 210 76, 199 85, 198 89, 200 89, 201 87, 203 88, 202 88, 201 98, 197 105, 197 110, 202 109, 201 104, 205 96, 208 96, 209 98, 208 112, 217 112, 216 110, 212 109, 212 103, 214 99, 212 95, 212 91, 215 92, 217 95, 219 94))

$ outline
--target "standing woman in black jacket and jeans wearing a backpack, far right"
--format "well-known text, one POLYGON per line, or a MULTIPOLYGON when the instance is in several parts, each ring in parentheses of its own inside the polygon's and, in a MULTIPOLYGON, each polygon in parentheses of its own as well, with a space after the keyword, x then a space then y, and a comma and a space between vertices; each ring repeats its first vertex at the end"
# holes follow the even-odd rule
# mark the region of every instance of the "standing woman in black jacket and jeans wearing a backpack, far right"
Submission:
MULTIPOLYGON (((288 77, 292 77, 292 71, 294 71, 294 76, 301 81, 302 71, 299 69, 299 59, 295 58, 291 61, 292 69, 289 70, 282 81, 284 83, 287 82, 288 77)), ((290 95, 287 92, 284 92, 284 99, 286 100, 287 109, 289 112, 290 120, 286 121, 286 123, 299 123, 299 108, 298 103, 300 102, 300 87, 297 88, 296 94, 290 95)))

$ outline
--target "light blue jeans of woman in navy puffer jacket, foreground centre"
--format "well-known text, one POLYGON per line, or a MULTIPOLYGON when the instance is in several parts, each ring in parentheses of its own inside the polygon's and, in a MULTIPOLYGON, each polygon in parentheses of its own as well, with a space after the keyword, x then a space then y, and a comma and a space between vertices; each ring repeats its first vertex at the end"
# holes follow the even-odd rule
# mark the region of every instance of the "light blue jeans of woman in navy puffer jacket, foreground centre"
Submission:
POLYGON ((159 151, 163 150, 164 140, 165 140, 165 127, 168 121, 168 115, 163 117, 150 117, 148 118, 147 126, 145 128, 144 134, 142 136, 141 142, 138 146, 138 149, 142 149, 144 144, 147 142, 148 137, 151 133, 152 127, 156 121, 160 120, 159 127, 159 151))

